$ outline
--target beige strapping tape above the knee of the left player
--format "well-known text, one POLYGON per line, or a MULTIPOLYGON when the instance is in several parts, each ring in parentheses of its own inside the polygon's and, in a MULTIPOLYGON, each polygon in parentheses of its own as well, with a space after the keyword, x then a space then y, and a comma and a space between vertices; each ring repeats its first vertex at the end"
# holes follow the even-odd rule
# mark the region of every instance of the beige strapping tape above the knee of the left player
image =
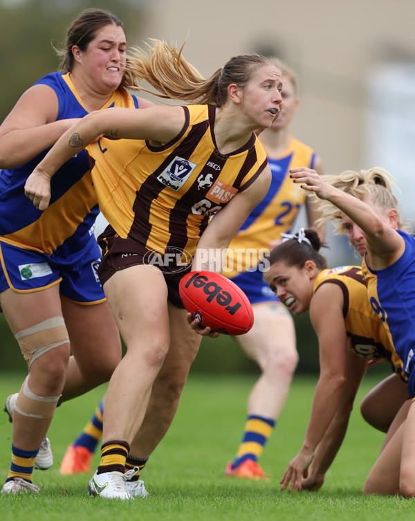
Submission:
POLYGON ((44 320, 28 329, 15 334, 30 370, 30 365, 42 354, 69 342, 68 331, 66 331, 63 317, 53 317, 44 320))

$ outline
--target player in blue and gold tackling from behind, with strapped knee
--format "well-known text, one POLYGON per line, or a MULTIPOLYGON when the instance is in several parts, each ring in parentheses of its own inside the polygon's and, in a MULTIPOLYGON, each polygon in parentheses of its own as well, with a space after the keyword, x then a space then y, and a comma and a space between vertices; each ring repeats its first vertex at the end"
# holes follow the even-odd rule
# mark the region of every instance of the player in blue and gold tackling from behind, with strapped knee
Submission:
POLYGON ((108 381, 121 358, 120 335, 96 273, 99 210, 86 153, 55 176, 53 204, 44 212, 24 196, 24 183, 78 118, 109 107, 152 105, 125 89, 131 86, 126 48, 115 15, 81 12, 68 28, 60 71, 21 95, 0 127, 0 305, 29 373, 6 401, 13 457, 3 493, 39 491, 33 468, 53 464, 46 432, 57 401, 108 381))

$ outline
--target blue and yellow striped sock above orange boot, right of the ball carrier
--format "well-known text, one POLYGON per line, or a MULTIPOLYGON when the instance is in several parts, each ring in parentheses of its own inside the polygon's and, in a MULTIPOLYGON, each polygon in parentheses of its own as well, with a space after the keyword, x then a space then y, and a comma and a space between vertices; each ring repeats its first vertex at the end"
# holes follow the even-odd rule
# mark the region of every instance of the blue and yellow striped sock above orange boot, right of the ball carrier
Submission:
POLYGON ((246 459, 258 461, 274 427, 275 420, 272 418, 264 418, 253 414, 248 416, 232 469, 237 468, 246 459))

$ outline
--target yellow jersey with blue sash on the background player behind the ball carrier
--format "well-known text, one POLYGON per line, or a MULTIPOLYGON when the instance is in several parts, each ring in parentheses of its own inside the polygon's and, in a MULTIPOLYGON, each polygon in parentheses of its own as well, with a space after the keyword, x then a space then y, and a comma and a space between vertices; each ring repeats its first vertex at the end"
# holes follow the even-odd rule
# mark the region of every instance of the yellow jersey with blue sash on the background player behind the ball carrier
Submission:
MULTIPOLYGON (((261 139, 261 136, 259 136, 261 139)), ((284 154, 277 158, 268 158, 272 181, 264 199, 252 210, 237 235, 229 246, 226 271, 223 275, 233 279, 243 271, 254 271, 254 259, 241 255, 235 262, 234 250, 253 248, 260 253, 269 251, 270 243, 281 238, 281 233, 290 232, 295 219, 306 201, 306 192, 290 179, 291 168, 305 166, 314 167, 313 150, 291 137, 291 143, 284 154), (253 266, 248 266, 252 263, 253 266), (252 270, 251 270, 252 268, 252 270)), ((257 255, 255 255, 257 257, 257 255)), ((262 256, 264 258, 264 256, 262 256)), ((237 282, 237 281, 236 281, 237 282)))

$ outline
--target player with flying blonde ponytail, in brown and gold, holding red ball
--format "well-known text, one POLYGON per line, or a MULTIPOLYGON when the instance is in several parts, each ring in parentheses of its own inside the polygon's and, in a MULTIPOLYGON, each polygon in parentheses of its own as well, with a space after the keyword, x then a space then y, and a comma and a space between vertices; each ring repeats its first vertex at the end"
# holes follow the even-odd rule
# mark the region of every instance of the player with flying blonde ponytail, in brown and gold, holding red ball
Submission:
POLYGON ((254 130, 271 125, 282 101, 281 72, 266 57, 233 57, 206 80, 181 50, 152 42, 149 57, 138 49, 130 58, 129 73, 162 97, 199 104, 92 113, 62 136, 25 189, 39 210, 47 208, 59 165, 104 136, 88 147, 111 225, 100 236, 98 273, 127 354, 109 383, 102 459, 89 493, 120 499, 131 497, 122 474, 130 444, 141 460, 154 450, 201 335, 217 335, 198 320, 189 327, 178 281, 192 269, 221 272, 211 253, 228 248, 268 190, 270 170, 254 130), (176 262, 169 253, 178 248, 176 262))

